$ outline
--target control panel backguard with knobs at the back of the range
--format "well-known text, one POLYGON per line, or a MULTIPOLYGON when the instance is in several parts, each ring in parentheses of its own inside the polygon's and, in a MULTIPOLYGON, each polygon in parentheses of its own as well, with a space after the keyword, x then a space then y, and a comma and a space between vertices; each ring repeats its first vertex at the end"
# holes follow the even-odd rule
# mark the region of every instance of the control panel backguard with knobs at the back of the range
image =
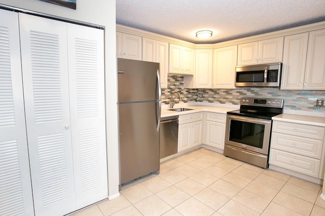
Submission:
POLYGON ((263 106, 263 107, 283 107, 283 99, 274 98, 240 98, 240 105, 263 106))

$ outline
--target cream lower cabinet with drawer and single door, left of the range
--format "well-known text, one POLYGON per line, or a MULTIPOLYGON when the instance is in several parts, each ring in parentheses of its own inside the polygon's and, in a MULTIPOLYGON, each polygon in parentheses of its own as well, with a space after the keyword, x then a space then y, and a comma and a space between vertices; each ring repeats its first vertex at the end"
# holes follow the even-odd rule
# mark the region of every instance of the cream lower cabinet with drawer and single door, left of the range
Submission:
POLYGON ((206 112, 205 144, 224 149, 226 114, 206 112))

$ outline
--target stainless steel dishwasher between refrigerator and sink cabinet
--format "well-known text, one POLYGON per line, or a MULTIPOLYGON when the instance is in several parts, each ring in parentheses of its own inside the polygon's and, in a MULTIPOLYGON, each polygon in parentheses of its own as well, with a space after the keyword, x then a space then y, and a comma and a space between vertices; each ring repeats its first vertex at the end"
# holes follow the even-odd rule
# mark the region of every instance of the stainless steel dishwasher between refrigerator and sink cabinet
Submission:
POLYGON ((160 120, 160 159, 176 154, 178 145, 178 115, 160 120))

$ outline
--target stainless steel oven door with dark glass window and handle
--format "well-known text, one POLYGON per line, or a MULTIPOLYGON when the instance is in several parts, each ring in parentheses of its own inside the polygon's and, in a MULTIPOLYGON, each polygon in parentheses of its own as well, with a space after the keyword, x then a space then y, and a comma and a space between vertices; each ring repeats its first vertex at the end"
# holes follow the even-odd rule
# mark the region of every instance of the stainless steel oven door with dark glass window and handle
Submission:
POLYGON ((225 144, 268 155, 272 120, 227 114, 225 144))

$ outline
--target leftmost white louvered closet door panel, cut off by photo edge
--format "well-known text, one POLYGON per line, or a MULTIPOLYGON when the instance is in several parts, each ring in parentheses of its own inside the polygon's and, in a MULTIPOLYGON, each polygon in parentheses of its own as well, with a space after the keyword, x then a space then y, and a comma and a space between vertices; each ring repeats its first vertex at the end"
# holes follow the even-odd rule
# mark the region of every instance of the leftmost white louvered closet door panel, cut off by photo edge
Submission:
POLYGON ((0 214, 33 215, 18 13, 0 10, 0 214))

